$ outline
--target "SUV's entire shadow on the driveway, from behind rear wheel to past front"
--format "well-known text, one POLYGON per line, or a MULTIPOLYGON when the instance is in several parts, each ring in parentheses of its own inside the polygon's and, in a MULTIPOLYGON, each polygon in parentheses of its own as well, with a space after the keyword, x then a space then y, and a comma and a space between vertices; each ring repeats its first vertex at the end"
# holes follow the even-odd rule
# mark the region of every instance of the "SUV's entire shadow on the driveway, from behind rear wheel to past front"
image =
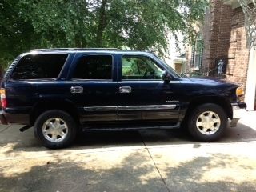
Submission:
MULTIPOLYGON (((14 130, 6 130, 14 131, 14 130)), ((16 130, 17 131, 17 130, 16 130)), ((13 134, 6 134, 11 137, 13 134)), ((4 137, 0 134, 0 137, 4 137)), ((45 151, 45 147, 34 138, 33 130, 24 133, 16 132, 15 138, 8 138, 6 142, 0 142, 2 153, 8 154, 15 151, 45 151), (22 134, 26 134, 23 137, 22 134), (18 136, 17 136, 18 135, 18 136), (7 150, 8 147, 8 150, 7 150)), ((249 126, 238 123, 237 127, 228 127, 224 136, 214 143, 225 142, 248 142, 256 141, 256 130, 249 126)), ((124 146, 161 146, 161 145, 180 145, 195 144, 201 145, 203 142, 195 142, 184 129, 178 130, 133 130, 133 131, 90 131, 86 130, 78 135, 72 149, 98 149, 104 147, 124 147, 124 146)), ((64 149, 65 150, 65 149, 64 149)), ((49 150, 51 151, 51 150, 49 150)))

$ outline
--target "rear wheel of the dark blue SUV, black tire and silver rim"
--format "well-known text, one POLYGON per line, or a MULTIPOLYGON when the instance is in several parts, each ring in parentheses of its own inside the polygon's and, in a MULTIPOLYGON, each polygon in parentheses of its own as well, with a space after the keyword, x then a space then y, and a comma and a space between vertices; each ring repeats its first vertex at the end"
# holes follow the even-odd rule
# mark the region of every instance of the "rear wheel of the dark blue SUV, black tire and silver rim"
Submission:
POLYGON ((66 113, 65 111, 47 110, 46 112, 42 113, 34 123, 34 135, 39 139, 40 142, 42 142, 42 146, 46 146, 49 149, 61 149, 70 146, 72 142, 74 142, 74 138, 77 134, 77 127, 78 126, 74 121, 74 118, 72 118, 70 114, 66 113), (59 124, 58 121, 60 122, 59 124), (50 124, 51 127, 47 128, 48 124, 50 124), (54 132, 54 134, 47 134, 46 130, 53 130, 56 131, 56 133, 54 132), (62 133, 60 133, 60 131, 62 133), (61 134, 63 134, 63 137, 61 134), (54 139, 56 141, 51 141, 54 139))

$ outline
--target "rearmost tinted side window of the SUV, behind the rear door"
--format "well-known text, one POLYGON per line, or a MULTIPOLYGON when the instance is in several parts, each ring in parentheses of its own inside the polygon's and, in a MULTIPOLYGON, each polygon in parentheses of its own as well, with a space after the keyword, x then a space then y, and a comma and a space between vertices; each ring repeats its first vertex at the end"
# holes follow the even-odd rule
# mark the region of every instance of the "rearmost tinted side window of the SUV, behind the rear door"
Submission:
POLYGON ((15 66, 10 79, 58 78, 67 54, 29 54, 15 66))

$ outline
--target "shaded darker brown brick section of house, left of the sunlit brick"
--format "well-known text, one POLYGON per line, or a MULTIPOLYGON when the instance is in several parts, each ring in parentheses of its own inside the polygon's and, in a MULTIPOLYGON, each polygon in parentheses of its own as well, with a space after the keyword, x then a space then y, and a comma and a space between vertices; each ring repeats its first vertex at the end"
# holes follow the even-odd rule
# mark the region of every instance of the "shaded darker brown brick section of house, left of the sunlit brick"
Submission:
POLYGON ((210 10, 206 13, 202 29, 205 41, 203 67, 204 73, 213 75, 218 60, 228 59, 231 30, 231 6, 223 5, 219 0, 212 0, 210 10))

